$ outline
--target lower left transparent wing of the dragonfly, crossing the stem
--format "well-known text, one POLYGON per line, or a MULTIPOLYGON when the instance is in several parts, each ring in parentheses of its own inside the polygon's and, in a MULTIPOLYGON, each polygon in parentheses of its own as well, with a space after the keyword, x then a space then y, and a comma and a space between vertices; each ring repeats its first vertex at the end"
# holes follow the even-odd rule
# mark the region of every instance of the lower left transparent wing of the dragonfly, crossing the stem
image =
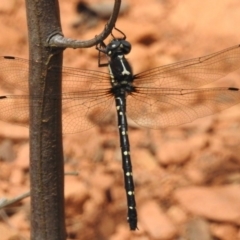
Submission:
MULTIPOLYGON (((52 99, 52 96, 49 97, 52 99)), ((37 105, 40 98, 32 98, 31 107, 37 105)), ((93 127, 100 123, 109 113, 113 104, 113 97, 105 92, 102 95, 93 91, 63 94, 62 96, 62 119, 63 133, 76 133, 93 127), (92 120, 95 121, 92 121, 92 120)), ((38 105, 39 106, 39 105, 38 105)), ((28 95, 5 95, 0 97, 0 119, 28 127, 29 124, 29 96, 28 95)))

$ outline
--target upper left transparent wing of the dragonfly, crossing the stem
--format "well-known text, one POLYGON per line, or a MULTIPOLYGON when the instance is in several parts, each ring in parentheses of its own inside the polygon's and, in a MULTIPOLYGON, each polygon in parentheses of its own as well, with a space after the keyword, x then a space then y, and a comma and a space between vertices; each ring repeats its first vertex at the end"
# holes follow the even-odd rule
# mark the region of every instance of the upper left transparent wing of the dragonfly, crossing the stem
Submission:
MULTIPOLYGON (((21 90, 28 93, 28 71, 30 60, 16 57, 0 57, 0 86, 8 92, 21 90)), ((42 64, 42 63, 34 63, 42 64)), ((71 67, 53 67, 53 71, 62 71, 62 85, 65 93, 109 89, 109 74, 100 71, 71 67)))

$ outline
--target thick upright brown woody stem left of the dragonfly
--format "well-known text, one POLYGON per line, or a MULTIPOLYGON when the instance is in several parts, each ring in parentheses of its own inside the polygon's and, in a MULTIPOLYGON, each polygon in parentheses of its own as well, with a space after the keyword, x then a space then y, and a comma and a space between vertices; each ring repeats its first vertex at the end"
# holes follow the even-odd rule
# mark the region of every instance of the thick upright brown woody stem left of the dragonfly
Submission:
POLYGON ((62 51, 47 48, 61 32, 57 0, 26 0, 29 36, 31 239, 65 240, 62 102, 62 51), (36 101, 31 96, 39 96, 36 101), (32 107, 34 106, 34 107, 32 107))

